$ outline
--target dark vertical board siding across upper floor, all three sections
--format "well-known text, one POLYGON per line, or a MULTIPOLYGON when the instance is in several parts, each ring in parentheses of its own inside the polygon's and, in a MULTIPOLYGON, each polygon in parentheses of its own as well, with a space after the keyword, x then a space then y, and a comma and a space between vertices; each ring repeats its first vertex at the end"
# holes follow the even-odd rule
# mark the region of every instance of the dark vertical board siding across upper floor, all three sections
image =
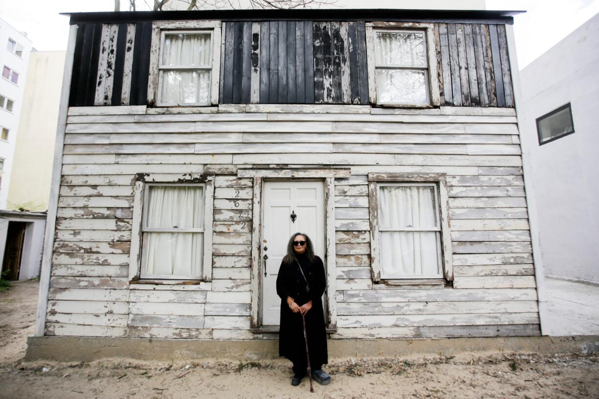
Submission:
MULTIPOLYGON (((102 23, 78 25, 70 106, 146 104, 152 22, 115 26, 114 62, 98 71, 99 59, 107 51, 101 48, 102 23), (128 25, 134 29, 129 43, 128 25), (131 71, 125 76, 126 56, 131 71), (111 79, 111 95, 105 95, 102 104, 96 96, 101 90, 98 77, 111 79)), ((368 104, 364 22, 225 22, 224 26, 220 104, 368 104), (253 83, 252 75, 257 75, 253 83)), ((437 62, 441 105, 514 106, 504 25, 435 23, 434 38, 436 60, 431 61, 437 62)))

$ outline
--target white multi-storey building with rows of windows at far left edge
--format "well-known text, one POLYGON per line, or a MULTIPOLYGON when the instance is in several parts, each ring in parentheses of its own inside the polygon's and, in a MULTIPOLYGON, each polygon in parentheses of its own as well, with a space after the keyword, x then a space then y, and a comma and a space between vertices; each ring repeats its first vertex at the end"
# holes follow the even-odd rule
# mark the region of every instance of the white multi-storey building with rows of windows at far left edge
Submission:
POLYGON ((0 210, 7 208, 8 186, 31 44, 26 34, 0 19, 0 210))

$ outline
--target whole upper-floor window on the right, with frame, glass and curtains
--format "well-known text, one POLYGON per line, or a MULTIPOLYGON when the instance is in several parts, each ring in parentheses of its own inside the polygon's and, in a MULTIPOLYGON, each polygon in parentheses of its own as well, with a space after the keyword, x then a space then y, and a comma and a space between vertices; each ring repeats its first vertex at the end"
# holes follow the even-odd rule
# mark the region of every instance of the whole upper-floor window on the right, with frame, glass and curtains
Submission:
POLYGON ((366 29, 370 102, 390 107, 440 105, 433 25, 372 22, 366 29))

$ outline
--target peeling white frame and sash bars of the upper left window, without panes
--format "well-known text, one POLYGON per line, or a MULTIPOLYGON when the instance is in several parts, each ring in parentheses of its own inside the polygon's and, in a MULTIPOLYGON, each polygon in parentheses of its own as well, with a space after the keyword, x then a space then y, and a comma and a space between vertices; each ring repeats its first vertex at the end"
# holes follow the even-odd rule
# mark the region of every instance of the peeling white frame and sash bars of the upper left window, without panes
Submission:
POLYGON ((148 84, 148 101, 150 105, 157 107, 206 107, 219 104, 219 78, 220 78, 220 47, 221 47, 222 23, 219 20, 205 21, 155 21, 152 25, 152 50, 150 58, 150 78, 148 84), (210 93, 209 102, 202 103, 167 103, 159 102, 161 96, 162 69, 208 69, 202 67, 185 68, 162 68, 162 43, 164 43, 165 33, 201 33, 210 32, 212 62, 210 65, 210 93))

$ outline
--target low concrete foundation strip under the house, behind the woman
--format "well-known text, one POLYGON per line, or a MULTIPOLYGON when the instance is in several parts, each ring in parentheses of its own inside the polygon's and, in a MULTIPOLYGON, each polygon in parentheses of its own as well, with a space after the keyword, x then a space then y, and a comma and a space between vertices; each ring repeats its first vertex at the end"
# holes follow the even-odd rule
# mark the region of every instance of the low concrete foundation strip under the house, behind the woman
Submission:
MULTIPOLYGON (((277 340, 181 340, 165 338, 28 337, 25 361, 264 360, 279 357, 277 340)), ((599 335, 576 337, 492 337, 418 340, 329 340, 329 359, 456 355, 461 352, 594 353, 599 335)))

